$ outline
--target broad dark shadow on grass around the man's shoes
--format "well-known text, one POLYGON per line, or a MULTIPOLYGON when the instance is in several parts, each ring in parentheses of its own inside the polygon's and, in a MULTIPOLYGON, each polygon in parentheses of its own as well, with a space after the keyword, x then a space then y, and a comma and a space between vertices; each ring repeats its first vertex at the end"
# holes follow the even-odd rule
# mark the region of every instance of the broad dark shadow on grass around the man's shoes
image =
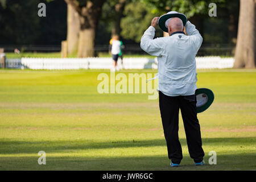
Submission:
POLYGON ((189 156, 184 156, 179 168, 170 167, 166 156, 131 156, 131 157, 47 157, 46 165, 38 164, 38 156, 2 157, 0 170, 86 170, 86 171, 169 171, 169 170, 255 170, 254 154, 218 155, 217 164, 195 166, 189 156))

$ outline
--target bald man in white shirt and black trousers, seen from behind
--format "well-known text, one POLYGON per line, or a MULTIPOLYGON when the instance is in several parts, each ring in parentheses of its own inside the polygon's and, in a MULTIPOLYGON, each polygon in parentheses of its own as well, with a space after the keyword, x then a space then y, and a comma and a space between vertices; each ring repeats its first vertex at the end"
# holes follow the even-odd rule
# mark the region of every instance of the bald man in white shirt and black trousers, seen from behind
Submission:
POLYGON ((172 167, 178 167, 183 158, 178 137, 179 109, 183 118, 188 151, 196 165, 204 165, 200 125, 196 112, 197 73, 196 53, 203 38, 189 21, 185 24, 179 18, 166 21, 169 37, 156 38, 155 27, 158 17, 141 38, 141 48, 158 57, 159 107, 168 158, 172 167))

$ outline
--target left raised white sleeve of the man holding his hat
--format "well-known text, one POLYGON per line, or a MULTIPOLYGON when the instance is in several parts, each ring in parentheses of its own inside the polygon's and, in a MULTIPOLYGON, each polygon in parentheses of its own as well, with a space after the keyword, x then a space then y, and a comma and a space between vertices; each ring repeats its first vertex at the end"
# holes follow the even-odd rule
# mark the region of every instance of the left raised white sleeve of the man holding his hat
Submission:
POLYGON ((162 56, 163 40, 161 38, 154 39, 154 36, 155 28, 148 27, 141 38, 141 48, 152 56, 162 56))

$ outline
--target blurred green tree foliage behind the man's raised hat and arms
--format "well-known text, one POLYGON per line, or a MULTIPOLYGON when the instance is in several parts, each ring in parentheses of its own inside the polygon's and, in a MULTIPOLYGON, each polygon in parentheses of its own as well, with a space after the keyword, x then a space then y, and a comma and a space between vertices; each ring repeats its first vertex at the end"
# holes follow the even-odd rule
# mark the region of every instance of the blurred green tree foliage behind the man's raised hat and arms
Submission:
MULTIPOLYGON (((192 23, 200 27, 203 33, 203 17, 208 16, 209 3, 214 2, 224 6, 226 0, 141 0, 129 3, 122 19, 122 36, 139 42, 144 30, 150 25, 154 16, 160 16, 168 11, 184 13, 192 23)), ((158 35, 158 34, 157 34, 158 35)))

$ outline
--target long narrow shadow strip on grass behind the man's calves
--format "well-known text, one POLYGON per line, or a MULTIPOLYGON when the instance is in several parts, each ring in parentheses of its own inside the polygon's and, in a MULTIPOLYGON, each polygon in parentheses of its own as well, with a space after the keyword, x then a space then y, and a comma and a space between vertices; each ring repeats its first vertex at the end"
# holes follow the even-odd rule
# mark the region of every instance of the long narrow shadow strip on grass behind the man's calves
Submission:
MULTIPOLYGON (((180 139, 182 146, 187 146, 184 138, 180 139)), ((203 146, 247 146, 256 143, 256 138, 205 138, 203 146)), ((35 154, 44 150, 47 152, 65 152, 70 150, 92 150, 104 148, 155 147, 166 146, 164 139, 152 140, 116 140, 96 142, 95 140, 49 140, 49 141, 17 141, 0 139, 0 154, 35 154)))

